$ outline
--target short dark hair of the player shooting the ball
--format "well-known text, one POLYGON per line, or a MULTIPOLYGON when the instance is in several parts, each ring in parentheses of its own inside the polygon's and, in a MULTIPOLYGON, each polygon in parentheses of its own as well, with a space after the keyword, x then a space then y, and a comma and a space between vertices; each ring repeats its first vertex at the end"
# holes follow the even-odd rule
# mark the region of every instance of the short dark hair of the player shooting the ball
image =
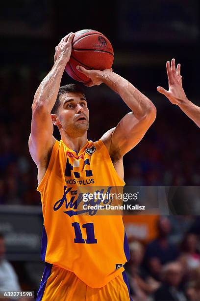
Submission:
POLYGON ((60 89, 58 91, 57 99, 56 99, 55 104, 54 104, 54 106, 51 110, 52 114, 56 114, 58 112, 59 106, 61 104, 60 95, 65 94, 67 92, 81 93, 85 97, 84 89, 81 86, 77 85, 77 84, 69 84, 69 85, 65 85, 65 86, 60 87, 60 89))

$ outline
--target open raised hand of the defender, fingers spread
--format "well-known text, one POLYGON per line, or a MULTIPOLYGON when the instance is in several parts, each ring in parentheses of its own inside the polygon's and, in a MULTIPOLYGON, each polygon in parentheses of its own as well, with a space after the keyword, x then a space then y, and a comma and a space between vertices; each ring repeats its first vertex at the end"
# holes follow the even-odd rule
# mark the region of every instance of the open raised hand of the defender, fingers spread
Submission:
POLYGON ((177 64, 175 69, 175 59, 170 62, 167 61, 167 75, 169 90, 165 90, 162 87, 157 87, 157 91, 164 94, 173 104, 179 104, 182 100, 187 99, 182 87, 182 76, 180 75, 180 64, 177 64))

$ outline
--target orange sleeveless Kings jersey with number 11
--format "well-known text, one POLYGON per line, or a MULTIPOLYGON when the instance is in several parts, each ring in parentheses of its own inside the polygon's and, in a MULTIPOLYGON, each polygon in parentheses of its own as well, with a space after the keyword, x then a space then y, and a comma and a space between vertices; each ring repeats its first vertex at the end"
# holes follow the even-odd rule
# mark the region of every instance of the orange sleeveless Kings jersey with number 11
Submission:
MULTIPOLYGON (((87 141, 78 152, 55 142, 47 171, 37 187, 44 227, 42 260, 72 271, 93 288, 100 288, 124 271, 129 259, 122 214, 83 209, 85 192, 122 188, 107 148, 101 140, 87 141)), ((101 205, 110 204, 109 198, 101 205)))

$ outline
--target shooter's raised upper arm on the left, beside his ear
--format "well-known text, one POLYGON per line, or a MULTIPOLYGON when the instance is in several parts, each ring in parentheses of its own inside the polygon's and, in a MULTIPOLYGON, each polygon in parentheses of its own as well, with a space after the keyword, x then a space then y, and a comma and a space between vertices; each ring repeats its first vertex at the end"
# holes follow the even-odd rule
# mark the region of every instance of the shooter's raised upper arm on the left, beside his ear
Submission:
POLYGON ((50 112, 45 106, 32 106, 31 134, 28 141, 29 151, 36 165, 40 165, 51 151, 55 138, 50 112))

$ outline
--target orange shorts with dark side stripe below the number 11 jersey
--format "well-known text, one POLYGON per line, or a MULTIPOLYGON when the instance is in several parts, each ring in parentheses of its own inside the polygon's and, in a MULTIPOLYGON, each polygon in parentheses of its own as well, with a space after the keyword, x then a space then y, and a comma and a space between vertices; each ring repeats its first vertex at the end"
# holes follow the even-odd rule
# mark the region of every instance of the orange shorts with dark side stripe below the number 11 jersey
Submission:
POLYGON ((100 288, 92 288, 71 271, 46 264, 36 301, 132 301, 125 271, 100 288))

